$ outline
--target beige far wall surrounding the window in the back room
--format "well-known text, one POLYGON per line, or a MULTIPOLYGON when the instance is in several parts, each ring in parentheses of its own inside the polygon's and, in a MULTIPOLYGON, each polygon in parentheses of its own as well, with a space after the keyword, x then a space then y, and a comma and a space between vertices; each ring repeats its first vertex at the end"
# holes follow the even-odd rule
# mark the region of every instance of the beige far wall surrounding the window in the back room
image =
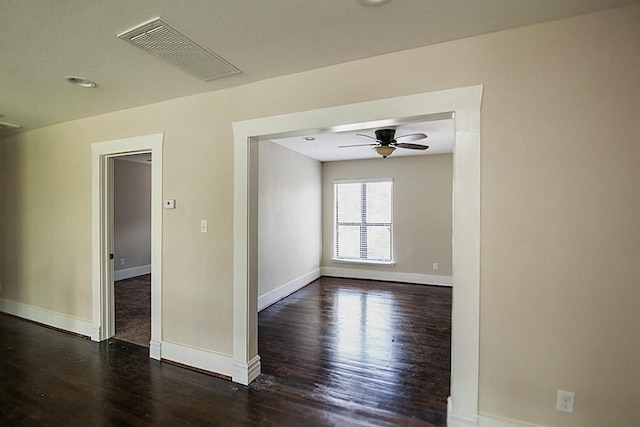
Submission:
POLYGON ((438 154, 322 164, 322 265, 451 276, 453 156, 438 154), (335 263, 333 181, 393 178, 394 266, 335 263), (438 271, 432 264, 439 264, 438 271))

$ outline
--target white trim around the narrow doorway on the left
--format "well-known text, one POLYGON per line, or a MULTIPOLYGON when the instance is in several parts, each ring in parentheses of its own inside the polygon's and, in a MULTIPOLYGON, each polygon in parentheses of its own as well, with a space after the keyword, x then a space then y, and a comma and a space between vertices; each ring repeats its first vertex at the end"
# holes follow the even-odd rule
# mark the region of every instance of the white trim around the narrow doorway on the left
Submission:
POLYGON ((108 195, 110 159, 126 154, 150 152, 151 163, 151 343, 149 355, 161 357, 162 342, 162 145, 164 134, 145 135, 91 145, 91 232, 92 232, 92 309, 91 339, 103 341, 113 336, 112 261, 108 195))

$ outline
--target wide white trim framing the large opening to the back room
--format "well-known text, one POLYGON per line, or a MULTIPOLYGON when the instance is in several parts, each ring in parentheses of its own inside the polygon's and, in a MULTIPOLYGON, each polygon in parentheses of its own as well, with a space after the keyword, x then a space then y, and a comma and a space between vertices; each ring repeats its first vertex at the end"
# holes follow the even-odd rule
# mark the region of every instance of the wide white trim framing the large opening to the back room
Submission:
POLYGON ((341 125, 454 112, 453 309, 449 416, 478 419, 480 323, 480 107, 482 85, 246 120, 234 132, 233 381, 259 375, 257 345, 257 185, 261 138, 341 125), (255 172, 255 171, 254 171, 255 172))

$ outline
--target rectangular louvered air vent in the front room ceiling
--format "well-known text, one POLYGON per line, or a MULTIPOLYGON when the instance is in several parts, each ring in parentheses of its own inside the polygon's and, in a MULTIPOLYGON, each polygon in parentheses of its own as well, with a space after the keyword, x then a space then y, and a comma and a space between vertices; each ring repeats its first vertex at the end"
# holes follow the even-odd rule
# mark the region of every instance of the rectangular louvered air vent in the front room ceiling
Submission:
POLYGON ((240 72, 236 67, 196 44, 161 18, 155 18, 118 34, 118 37, 159 56, 201 80, 217 79, 240 72))

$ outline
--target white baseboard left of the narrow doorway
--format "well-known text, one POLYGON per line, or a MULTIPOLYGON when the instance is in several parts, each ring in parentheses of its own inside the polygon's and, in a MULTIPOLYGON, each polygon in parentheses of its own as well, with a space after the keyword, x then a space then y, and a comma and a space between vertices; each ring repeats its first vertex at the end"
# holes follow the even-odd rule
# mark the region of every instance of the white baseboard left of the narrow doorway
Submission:
POLYGON ((44 308, 34 307, 32 305, 7 299, 0 299, 0 311, 23 319, 31 320, 33 322, 73 332, 75 334, 87 337, 93 336, 93 324, 91 322, 78 319, 77 317, 67 316, 66 314, 57 313, 55 311, 49 311, 44 308))

